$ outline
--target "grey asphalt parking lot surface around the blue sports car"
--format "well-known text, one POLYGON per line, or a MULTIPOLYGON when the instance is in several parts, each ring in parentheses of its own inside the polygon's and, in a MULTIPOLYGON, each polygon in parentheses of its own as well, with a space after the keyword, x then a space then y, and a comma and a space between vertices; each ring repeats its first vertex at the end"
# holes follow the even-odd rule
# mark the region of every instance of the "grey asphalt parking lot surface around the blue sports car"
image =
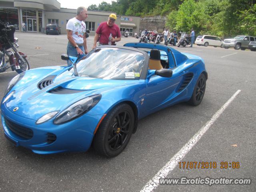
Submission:
MULTIPOLYGON (((28 55, 30 68, 63 65, 66 35, 16 33, 18 48, 28 55)), ((122 38, 118 45, 138 42, 122 38)), ((87 39, 92 49, 93 36, 87 39)), ((0 191, 6 192, 137 192, 211 122, 182 162, 216 162, 216 168, 179 168, 166 178, 250 178, 250 185, 159 185, 156 192, 256 191, 256 52, 212 46, 174 47, 204 59, 208 80, 202 103, 166 108, 140 120, 125 150, 115 158, 84 153, 38 155, 16 148, 0 125, 0 191), (240 90, 240 92, 237 92, 240 90), (236 97, 216 117, 216 112, 236 97), (239 168, 220 168, 221 162, 239 162, 239 168)), ((0 74, 0 98, 16 72, 0 74)), ((146 189, 146 188, 145 188, 146 189)))

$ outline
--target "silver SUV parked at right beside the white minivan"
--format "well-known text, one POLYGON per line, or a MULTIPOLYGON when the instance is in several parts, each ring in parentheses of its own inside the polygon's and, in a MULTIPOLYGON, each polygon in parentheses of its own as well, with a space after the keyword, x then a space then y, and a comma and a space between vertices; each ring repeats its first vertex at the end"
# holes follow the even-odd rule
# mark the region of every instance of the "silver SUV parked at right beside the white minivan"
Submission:
POLYGON ((248 49, 248 45, 250 41, 256 41, 256 37, 252 36, 236 36, 232 39, 225 39, 224 40, 224 48, 228 49, 230 47, 234 47, 234 49, 238 50, 241 48, 241 50, 248 49))

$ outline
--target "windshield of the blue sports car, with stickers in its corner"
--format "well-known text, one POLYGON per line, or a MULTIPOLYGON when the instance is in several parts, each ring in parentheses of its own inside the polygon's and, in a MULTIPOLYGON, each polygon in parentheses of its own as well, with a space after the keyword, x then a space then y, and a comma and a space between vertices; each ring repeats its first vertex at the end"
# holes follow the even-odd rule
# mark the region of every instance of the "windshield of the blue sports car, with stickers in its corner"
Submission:
MULTIPOLYGON (((101 47, 89 52, 76 68, 80 77, 138 80, 144 61, 144 54, 137 51, 101 47)), ((73 68, 70 72, 74 73, 73 68)))

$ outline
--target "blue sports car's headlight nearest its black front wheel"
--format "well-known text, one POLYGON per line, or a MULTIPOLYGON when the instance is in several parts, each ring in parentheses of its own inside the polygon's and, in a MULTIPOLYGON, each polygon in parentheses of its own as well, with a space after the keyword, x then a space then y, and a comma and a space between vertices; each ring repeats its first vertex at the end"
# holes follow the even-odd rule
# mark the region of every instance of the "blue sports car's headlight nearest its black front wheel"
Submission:
POLYGON ((100 101, 100 99, 101 95, 98 94, 73 103, 54 118, 54 124, 63 124, 80 117, 91 110, 100 101))

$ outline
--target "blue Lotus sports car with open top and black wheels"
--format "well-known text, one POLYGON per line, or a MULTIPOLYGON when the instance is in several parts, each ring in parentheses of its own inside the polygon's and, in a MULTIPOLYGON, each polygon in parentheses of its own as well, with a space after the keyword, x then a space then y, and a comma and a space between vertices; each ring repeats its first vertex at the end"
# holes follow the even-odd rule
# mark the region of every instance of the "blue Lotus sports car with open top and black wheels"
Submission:
POLYGON ((71 66, 15 76, 1 102, 4 135, 38 154, 82 152, 92 145, 114 157, 138 120, 179 102, 200 104, 207 72, 202 58, 163 45, 99 46, 71 66))

